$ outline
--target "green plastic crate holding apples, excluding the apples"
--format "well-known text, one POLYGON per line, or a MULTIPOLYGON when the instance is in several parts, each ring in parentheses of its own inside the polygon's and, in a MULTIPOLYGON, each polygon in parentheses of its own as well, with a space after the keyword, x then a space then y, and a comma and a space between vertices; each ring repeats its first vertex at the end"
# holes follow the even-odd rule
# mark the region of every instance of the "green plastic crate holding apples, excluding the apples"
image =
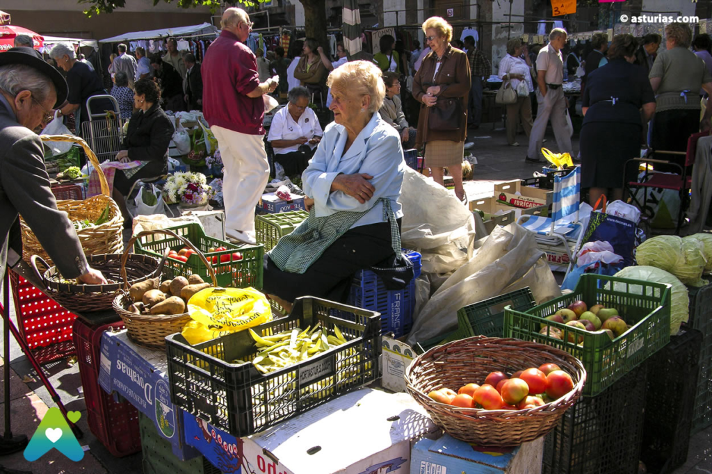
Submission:
POLYGON ((671 286, 663 283, 582 275, 573 293, 526 312, 506 308, 504 336, 549 344, 577 357, 587 372, 584 394, 595 396, 670 342, 670 295, 671 286), (576 300, 614 307, 632 327, 611 340, 603 331, 588 332, 544 319, 576 300), (542 324, 561 330, 563 340, 540 334, 542 324), (568 342, 569 335, 583 337, 582 345, 568 342))

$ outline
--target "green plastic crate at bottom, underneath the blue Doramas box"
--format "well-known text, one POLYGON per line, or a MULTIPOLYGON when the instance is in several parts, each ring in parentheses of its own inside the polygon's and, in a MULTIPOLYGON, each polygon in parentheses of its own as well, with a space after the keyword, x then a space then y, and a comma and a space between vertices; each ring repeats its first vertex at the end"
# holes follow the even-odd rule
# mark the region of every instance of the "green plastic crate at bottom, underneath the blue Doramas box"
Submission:
POLYGON ((173 454, 171 443, 156 431, 153 420, 139 412, 143 474, 222 474, 204 456, 180 460, 173 454))

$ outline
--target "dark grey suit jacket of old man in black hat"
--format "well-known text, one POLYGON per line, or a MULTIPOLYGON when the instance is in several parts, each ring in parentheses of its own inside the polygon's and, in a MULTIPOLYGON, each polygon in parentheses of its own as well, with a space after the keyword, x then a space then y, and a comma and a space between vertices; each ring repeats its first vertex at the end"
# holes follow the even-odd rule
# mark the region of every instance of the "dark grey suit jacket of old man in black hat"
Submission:
POLYGON ((0 275, 22 256, 19 216, 64 278, 86 273, 87 260, 67 214, 57 209, 39 137, 0 100, 0 275), (7 249, 11 252, 8 262, 7 249))

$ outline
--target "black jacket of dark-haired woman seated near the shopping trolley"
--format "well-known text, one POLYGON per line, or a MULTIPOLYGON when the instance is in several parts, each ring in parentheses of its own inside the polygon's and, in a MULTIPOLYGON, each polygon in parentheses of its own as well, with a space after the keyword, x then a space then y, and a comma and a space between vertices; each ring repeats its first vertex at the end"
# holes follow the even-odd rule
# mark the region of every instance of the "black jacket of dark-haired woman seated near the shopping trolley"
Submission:
POLYGON ((130 159, 160 162, 167 167, 168 144, 173 137, 173 125, 166 112, 154 104, 146 112, 137 110, 129 120, 124 147, 130 159))

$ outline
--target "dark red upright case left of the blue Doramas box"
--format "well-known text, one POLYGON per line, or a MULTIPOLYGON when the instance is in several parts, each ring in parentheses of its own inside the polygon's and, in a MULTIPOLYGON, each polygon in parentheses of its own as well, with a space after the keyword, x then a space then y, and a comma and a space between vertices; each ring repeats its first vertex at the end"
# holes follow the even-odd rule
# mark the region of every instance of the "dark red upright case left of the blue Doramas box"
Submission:
POLYGON ((99 386, 101 335, 105 330, 123 328, 122 321, 98 326, 90 326, 80 319, 74 321, 74 344, 89 429, 117 458, 141 451, 138 410, 128 401, 115 401, 99 386))

